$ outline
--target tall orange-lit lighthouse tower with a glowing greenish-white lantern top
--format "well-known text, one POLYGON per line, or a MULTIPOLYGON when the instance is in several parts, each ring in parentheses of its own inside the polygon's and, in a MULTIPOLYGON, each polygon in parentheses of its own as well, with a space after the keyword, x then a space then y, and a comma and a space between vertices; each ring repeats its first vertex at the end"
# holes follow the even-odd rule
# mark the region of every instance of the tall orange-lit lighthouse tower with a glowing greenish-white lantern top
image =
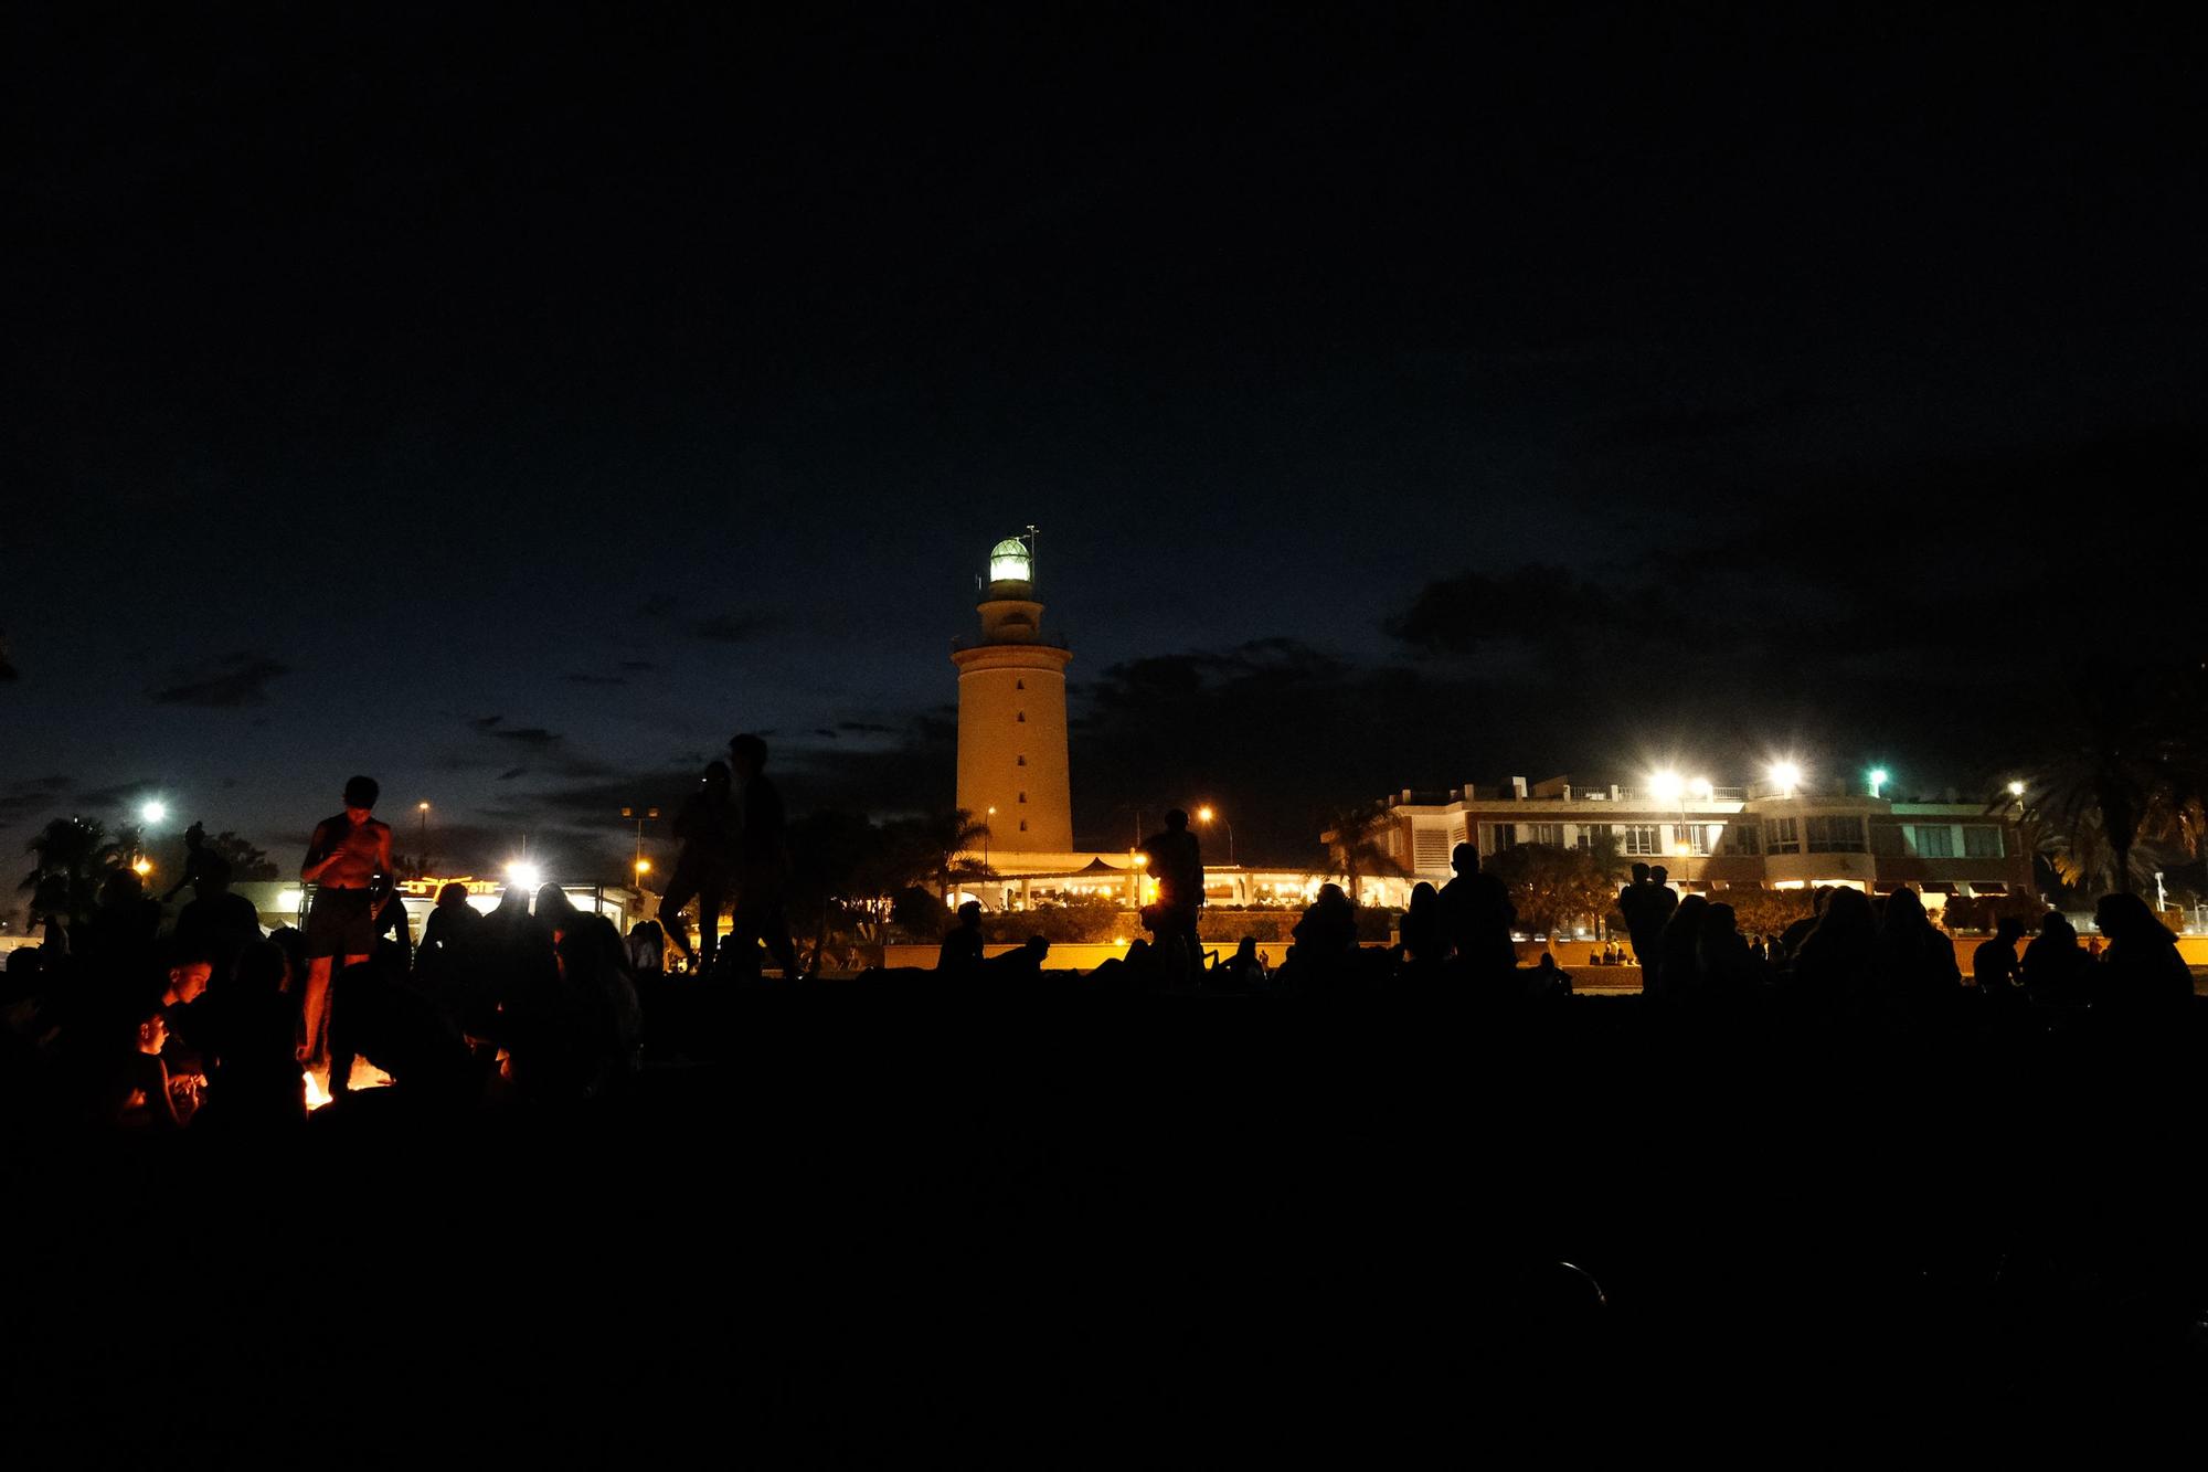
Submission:
POLYGON ((960 639, 952 650, 958 665, 958 807, 989 824, 991 855, 1066 853, 1073 849, 1066 774, 1073 650, 1042 634, 1031 537, 1007 537, 989 548, 989 583, 978 610, 980 637, 960 639))

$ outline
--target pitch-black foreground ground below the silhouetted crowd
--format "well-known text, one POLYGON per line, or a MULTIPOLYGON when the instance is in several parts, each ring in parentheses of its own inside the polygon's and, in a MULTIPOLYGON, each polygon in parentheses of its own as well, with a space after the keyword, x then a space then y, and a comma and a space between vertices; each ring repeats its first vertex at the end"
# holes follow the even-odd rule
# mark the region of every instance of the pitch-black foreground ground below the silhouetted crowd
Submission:
POLYGON ((673 1026, 702 1061, 559 1116, 18 1149, 20 1465, 1793 1461, 2208 1388, 2195 1037, 835 988, 673 1026))

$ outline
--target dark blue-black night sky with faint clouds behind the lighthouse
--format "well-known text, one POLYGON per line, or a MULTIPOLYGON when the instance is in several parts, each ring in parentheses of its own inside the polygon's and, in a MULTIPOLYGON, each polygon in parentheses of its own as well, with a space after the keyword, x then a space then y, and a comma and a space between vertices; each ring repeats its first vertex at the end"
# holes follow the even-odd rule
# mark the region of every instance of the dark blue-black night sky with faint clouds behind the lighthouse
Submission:
POLYGON ((2106 7, 9 22, 0 844, 625 853, 952 800, 1042 528, 1075 827, 1791 751, 1978 791, 2199 645, 2199 51, 2106 7), (1771 15, 1766 11, 1784 11, 1771 15))

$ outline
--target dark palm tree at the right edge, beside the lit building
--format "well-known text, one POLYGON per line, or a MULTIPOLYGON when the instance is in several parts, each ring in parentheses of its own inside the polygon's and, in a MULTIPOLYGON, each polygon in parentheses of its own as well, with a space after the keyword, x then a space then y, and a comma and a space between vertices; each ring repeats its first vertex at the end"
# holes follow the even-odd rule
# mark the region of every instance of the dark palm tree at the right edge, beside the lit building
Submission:
POLYGON ((2071 703, 2073 736, 2027 785, 2027 822, 2051 831, 2049 858, 2067 884, 2137 893, 2133 851, 2173 844, 2199 853, 2208 829, 2208 751, 2199 745, 2197 679, 2109 672, 2071 703))

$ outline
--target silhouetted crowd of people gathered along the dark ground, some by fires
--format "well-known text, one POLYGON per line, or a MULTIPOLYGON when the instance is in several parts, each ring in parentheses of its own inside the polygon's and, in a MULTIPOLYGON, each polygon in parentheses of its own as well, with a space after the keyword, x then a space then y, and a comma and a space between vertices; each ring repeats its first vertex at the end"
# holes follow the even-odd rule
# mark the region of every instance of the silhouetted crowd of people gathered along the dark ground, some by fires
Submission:
MULTIPOLYGON (((329 1096, 344 1098, 362 1059, 422 1101, 590 1098, 636 1070, 647 1041, 682 1048, 684 990, 760 979, 762 950, 784 979, 808 977, 775 877, 782 811, 762 776, 764 743, 737 738, 731 754, 733 771, 713 763, 682 811, 682 860, 660 919, 629 935, 578 911, 556 884, 534 895, 510 886, 488 913, 464 886, 446 884, 415 946, 389 884, 391 831, 373 818, 369 778, 353 778, 344 813, 314 833, 300 869, 316 884, 305 928, 263 935, 254 906, 232 893, 225 860, 201 851, 188 873, 192 900, 163 933, 161 902, 135 871, 117 869, 91 915, 68 926, 49 917, 42 946, 9 955, 4 1087, 46 1118, 119 1132, 296 1125, 309 1085, 327 1079, 329 1096), (691 900, 696 944, 682 917, 691 900), (729 900, 735 924, 715 944, 729 900)), ((1225 955, 1201 950, 1201 853, 1181 813, 1146 849, 1159 880, 1157 904, 1144 911, 1153 939, 1086 977, 1066 972, 1064 986, 1497 1003, 1572 990, 1554 950, 1521 964, 1510 893, 1482 871, 1471 844, 1455 849, 1444 886, 1413 889, 1393 946, 1360 944, 1351 900, 1336 884, 1320 886, 1276 968, 1254 937, 1225 955)), ((1643 995, 1674 1017, 1771 1012, 1912 1030, 1950 1026, 1963 1012, 1987 1021, 2091 1014, 2111 1028, 2190 1014, 2193 977, 2175 937, 2124 893, 2100 900, 2104 953, 2049 911, 2023 955, 2025 922, 2003 919, 1967 972, 1908 889, 1877 897, 1819 889, 1813 915, 1751 942, 1722 900, 1682 895, 1663 869, 1634 864, 1616 913, 1643 995)), ((1029 937, 985 955, 983 908, 969 902, 934 972, 901 981, 938 992, 1033 990, 1049 944, 1029 937)))

